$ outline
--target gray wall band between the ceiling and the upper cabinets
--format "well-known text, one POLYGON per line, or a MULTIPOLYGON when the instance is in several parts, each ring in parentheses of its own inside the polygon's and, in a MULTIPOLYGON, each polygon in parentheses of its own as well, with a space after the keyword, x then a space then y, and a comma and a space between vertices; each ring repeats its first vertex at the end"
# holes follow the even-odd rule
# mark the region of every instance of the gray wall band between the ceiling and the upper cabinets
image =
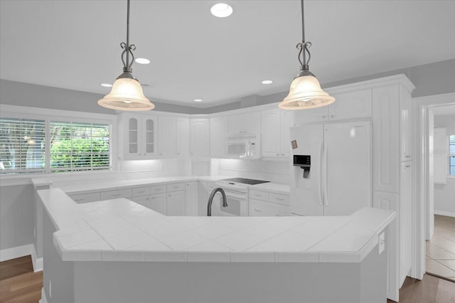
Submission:
MULTIPOLYGON (((332 83, 322 83, 322 87, 346 85, 398 74, 407 75, 407 78, 410 78, 411 82, 414 83, 416 89, 412 92, 412 97, 455 92, 455 59, 418 65, 411 68, 390 70, 385 73, 364 75, 358 78, 343 79, 332 83)), ((225 105, 217 105, 205 109, 175 105, 166 100, 152 100, 152 102, 156 105, 156 110, 161 112, 178 112, 196 115, 281 102, 286 95, 287 92, 278 92, 264 96, 250 95, 238 100, 232 100, 232 102, 225 105)), ((91 92, 0 80, 0 103, 3 104, 112 114, 112 110, 107 110, 97 105, 97 100, 102 97, 102 95, 91 92)))

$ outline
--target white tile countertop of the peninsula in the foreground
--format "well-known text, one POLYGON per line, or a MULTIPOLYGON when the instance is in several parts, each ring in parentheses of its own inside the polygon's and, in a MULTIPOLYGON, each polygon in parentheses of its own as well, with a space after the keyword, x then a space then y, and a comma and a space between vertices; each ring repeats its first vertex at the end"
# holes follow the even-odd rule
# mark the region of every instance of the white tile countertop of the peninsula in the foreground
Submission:
POLYGON ((363 208, 339 217, 168 217, 125 198, 38 195, 64 261, 361 262, 396 216, 363 208))

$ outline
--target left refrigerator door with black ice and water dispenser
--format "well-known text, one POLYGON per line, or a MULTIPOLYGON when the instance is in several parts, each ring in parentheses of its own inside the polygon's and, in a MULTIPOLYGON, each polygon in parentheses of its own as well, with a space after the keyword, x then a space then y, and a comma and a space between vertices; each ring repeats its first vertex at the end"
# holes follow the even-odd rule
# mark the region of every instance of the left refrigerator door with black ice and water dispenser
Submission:
MULTIPOLYGON (((321 161, 323 154, 323 125, 291 127, 291 141, 296 140, 293 155, 311 156, 308 178, 299 166, 292 167, 291 213, 300 216, 323 216, 321 161)), ((292 161, 292 160, 291 160, 292 161)))

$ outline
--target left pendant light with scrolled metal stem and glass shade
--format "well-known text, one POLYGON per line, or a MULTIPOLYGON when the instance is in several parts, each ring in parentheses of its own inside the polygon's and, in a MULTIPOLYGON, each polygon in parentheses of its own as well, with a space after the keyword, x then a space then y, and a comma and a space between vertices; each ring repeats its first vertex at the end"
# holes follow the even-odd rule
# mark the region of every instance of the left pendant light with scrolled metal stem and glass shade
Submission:
POLYGON ((112 90, 101 100, 98 105, 107 107, 112 110, 141 111, 153 110, 155 105, 144 96, 141 84, 132 74, 132 65, 134 62, 133 50, 136 49, 134 44, 129 44, 129 1, 127 0, 127 43, 120 43, 122 52, 123 73, 117 77, 112 90), (126 55, 127 60, 124 60, 126 55), (129 55, 132 56, 131 62, 129 55))

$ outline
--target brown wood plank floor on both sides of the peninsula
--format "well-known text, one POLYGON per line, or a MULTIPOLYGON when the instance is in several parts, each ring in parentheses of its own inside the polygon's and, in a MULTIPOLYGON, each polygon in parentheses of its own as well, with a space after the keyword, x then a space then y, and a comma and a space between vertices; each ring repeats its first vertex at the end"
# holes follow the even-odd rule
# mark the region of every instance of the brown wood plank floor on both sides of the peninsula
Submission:
MULTIPOLYGON (((41 299, 41 287, 43 272, 33 272, 30 256, 0 262, 1 303, 36 303, 41 299)), ((431 275, 424 275, 422 281, 407 277, 400 289, 400 303, 455 303, 455 283, 431 275)))

